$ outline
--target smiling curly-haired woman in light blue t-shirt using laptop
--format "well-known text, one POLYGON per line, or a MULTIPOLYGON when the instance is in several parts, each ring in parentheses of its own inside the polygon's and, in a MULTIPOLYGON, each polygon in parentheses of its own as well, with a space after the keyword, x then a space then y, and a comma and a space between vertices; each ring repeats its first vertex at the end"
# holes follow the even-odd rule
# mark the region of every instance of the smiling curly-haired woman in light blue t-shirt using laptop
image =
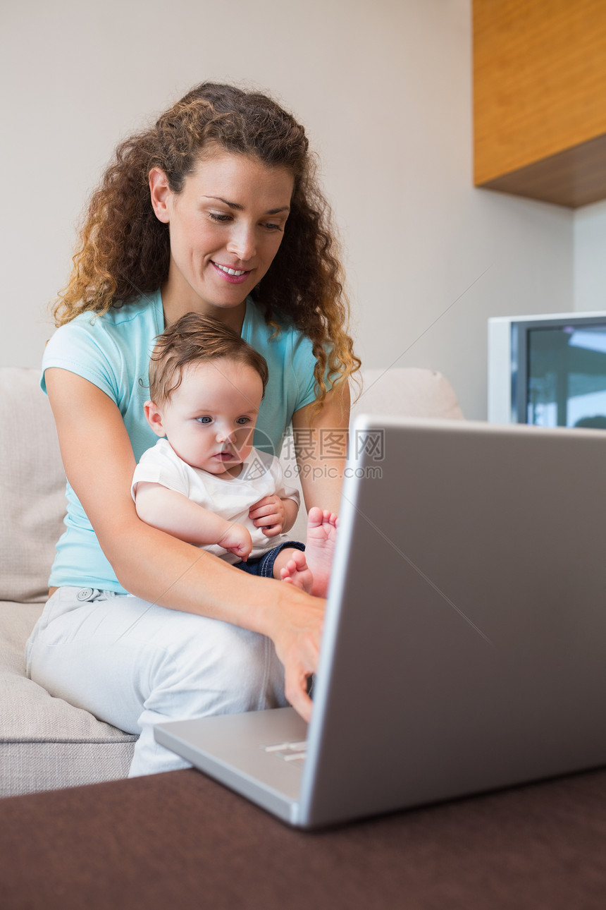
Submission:
POLYGON ((267 359, 254 444, 278 452, 292 421, 305 507, 337 511, 359 360, 326 210, 303 127, 265 96, 210 83, 124 141, 92 197, 43 362, 68 513, 27 660, 51 693, 140 733, 132 775, 184 765, 154 743, 167 717, 284 695, 310 717, 323 601, 149 527, 130 486, 154 442, 154 339, 194 311, 267 359), (337 471, 320 470, 322 430, 333 455, 340 440, 337 471))

